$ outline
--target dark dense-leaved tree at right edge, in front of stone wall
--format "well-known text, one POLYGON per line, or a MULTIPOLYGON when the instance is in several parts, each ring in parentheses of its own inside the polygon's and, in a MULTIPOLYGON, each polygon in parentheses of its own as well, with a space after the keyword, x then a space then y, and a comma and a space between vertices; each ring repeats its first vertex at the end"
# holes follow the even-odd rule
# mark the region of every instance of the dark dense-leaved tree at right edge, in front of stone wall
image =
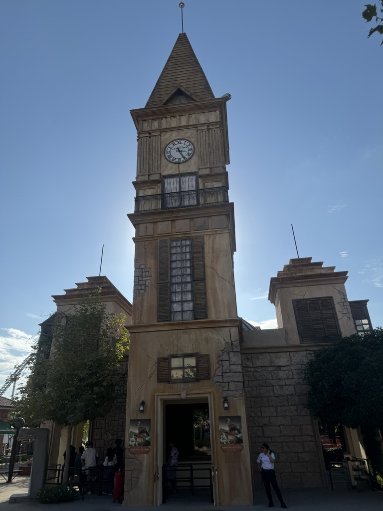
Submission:
POLYGON ((354 334, 306 364, 308 409, 322 423, 361 428, 375 474, 383 476, 383 329, 354 334))

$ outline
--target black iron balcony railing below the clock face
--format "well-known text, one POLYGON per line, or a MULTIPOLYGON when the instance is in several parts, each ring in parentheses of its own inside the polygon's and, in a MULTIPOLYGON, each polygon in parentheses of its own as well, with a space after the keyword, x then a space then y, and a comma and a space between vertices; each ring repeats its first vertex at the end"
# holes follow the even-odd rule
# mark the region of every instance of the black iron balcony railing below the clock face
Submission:
POLYGON ((139 213, 141 211, 174 210, 179 207, 224 204, 225 202, 229 202, 227 187, 143 195, 134 198, 134 213, 139 213))

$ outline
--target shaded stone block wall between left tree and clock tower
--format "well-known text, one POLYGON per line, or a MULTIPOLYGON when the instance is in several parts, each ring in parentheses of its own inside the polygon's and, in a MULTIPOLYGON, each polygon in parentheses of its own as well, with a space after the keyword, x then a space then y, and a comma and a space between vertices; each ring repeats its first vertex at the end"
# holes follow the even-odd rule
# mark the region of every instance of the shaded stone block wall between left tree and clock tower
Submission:
POLYGON ((105 417, 100 417, 92 421, 89 428, 89 440, 94 444, 94 447, 99 451, 100 460, 105 459, 106 450, 108 447, 115 447, 114 440, 121 438, 123 440, 123 447, 125 441, 125 424, 126 424, 126 390, 128 378, 128 356, 125 356, 119 362, 118 376, 121 385, 118 390, 118 398, 116 400, 114 409, 111 410, 105 417), (109 432, 112 436, 110 440, 105 440, 105 433, 109 432))

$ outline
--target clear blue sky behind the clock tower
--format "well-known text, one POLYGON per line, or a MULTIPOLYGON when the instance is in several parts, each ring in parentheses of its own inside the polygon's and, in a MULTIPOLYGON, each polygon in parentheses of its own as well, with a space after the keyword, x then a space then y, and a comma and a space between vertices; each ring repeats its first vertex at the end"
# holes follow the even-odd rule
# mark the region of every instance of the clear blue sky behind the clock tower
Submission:
MULTIPOLYGON (((52 294, 133 287, 136 133, 181 31, 178 0, 3 0, 0 385, 52 294), (3 359, 3 362, 1 360, 3 359)), ((184 29, 228 103, 238 314, 273 328, 270 277, 296 257, 348 270, 383 325, 383 48, 355 0, 186 0, 184 29)), ((376 35, 376 34, 375 34, 376 35)), ((9 392, 6 393, 9 395, 9 392)))

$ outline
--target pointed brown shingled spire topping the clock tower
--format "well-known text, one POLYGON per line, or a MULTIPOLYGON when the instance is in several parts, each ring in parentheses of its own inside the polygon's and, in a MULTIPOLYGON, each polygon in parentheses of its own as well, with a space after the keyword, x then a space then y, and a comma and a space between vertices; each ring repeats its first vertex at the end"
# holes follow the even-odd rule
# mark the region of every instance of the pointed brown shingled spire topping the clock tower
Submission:
POLYGON ((186 89, 197 100, 214 99, 209 82, 185 33, 178 36, 145 107, 163 105, 177 88, 186 89))

